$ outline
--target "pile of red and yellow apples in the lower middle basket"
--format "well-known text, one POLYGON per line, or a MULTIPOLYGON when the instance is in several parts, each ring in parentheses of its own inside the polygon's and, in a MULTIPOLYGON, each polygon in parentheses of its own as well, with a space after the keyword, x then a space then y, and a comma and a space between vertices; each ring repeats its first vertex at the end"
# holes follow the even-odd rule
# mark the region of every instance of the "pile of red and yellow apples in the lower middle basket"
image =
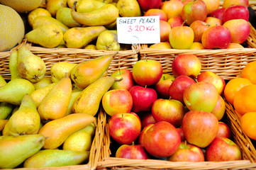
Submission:
POLYGON ((115 157, 166 159, 175 162, 242 159, 225 123, 226 86, 217 74, 201 72, 196 55, 177 55, 172 73, 157 60, 139 60, 132 71, 121 69, 104 94, 115 157))

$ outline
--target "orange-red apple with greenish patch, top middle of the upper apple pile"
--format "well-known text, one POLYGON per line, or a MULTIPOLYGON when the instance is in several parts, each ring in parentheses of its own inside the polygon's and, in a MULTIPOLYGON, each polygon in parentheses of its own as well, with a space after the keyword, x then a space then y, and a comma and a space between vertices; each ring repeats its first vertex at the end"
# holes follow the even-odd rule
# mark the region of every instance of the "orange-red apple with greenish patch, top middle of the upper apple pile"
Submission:
POLYGON ((202 0, 190 1, 183 6, 181 15, 187 25, 190 25, 196 20, 204 21, 207 17, 206 3, 202 0))

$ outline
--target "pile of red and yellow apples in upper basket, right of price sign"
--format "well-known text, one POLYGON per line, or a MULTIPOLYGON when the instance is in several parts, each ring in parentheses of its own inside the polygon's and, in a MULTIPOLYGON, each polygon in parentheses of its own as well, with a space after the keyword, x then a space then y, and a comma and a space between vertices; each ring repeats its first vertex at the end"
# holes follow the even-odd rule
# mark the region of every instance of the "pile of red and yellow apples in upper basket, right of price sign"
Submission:
POLYGON ((161 42, 152 48, 243 48, 250 35, 248 0, 149 1, 138 0, 144 16, 160 16, 161 42))

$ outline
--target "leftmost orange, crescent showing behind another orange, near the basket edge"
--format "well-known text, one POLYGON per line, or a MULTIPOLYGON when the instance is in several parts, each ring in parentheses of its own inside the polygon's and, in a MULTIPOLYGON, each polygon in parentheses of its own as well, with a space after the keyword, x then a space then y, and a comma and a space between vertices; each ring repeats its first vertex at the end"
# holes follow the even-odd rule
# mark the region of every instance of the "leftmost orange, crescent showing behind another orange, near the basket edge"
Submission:
POLYGON ((236 77, 228 81, 224 89, 224 96, 226 100, 233 104, 235 94, 243 87, 252 84, 248 79, 236 77))

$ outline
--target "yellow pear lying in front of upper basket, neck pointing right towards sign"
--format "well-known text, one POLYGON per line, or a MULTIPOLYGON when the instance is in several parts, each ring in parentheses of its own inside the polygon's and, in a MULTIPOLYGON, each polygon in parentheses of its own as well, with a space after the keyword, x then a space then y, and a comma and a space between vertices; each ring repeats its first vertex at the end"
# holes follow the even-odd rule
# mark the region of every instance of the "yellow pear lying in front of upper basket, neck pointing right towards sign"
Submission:
POLYGON ((106 28, 104 26, 76 27, 70 28, 63 35, 66 47, 82 48, 89 44, 92 40, 98 38, 106 28))

